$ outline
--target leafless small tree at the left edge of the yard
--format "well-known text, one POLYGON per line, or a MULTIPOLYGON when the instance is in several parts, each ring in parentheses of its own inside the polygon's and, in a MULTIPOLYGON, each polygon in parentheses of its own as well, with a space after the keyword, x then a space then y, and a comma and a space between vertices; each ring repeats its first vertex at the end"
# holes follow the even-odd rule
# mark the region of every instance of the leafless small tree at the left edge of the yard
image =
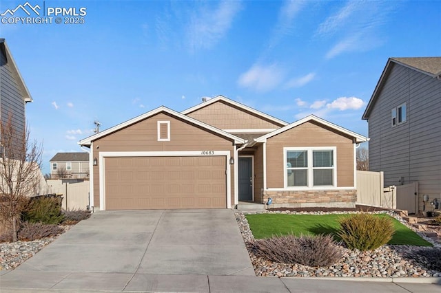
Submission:
POLYGON ((30 141, 28 128, 14 127, 12 116, 0 120, 0 143, 0 217, 12 229, 15 242, 20 215, 37 190, 43 148, 30 141))

